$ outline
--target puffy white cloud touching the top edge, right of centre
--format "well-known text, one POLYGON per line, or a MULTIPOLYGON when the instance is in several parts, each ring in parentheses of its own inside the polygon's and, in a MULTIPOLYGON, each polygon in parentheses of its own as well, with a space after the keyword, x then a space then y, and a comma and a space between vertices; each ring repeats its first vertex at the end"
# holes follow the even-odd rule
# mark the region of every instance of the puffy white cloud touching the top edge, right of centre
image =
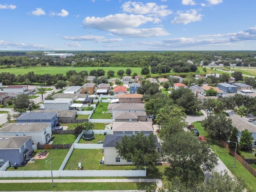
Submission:
POLYGON ((122 8, 124 12, 142 15, 146 14, 164 17, 172 14, 171 10, 166 9, 166 5, 158 6, 156 3, 143 4, 142 2, 128 1, 122 4, 122 8))

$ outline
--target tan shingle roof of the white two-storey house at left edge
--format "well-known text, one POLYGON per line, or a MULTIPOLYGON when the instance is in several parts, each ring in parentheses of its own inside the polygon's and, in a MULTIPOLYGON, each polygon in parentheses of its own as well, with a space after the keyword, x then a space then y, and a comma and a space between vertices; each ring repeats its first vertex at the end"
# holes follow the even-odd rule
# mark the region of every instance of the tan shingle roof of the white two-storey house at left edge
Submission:
POLYGON ((0 132, 42 132, 51 123, 5 123, 0 132))

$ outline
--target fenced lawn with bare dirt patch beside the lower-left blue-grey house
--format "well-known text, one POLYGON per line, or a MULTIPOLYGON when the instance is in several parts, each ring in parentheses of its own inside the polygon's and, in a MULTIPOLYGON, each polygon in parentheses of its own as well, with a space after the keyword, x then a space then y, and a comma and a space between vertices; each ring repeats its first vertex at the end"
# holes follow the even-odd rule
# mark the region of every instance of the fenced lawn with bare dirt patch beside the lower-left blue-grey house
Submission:
MULTIPOLYGON (((42 152, 44 150, 35 150, 34 156, 38 152, 42 152)), ((59 170, 64 158, 68 154, 69 149, 48 149, 48 156, 45 159, 34 159, 34 163, 30 162, 26 166, 18 167, 17 171, 26 171, 26 170, 51 170, 50 162, 46 162, 47 159, 51 158, 52 160, 52 170, 59 170)), ((7 170, 14 170, 9 167, 7 170)))

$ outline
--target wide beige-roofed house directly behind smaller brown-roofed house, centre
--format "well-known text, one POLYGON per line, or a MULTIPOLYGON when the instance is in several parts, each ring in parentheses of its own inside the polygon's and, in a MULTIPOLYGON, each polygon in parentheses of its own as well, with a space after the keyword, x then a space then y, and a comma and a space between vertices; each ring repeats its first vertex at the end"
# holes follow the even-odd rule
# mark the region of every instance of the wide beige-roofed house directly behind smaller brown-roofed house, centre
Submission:
POLYGON ((112 103, 108 104, 108 113, 115 119, 116 112, 145 112, 144 103, 112 103))

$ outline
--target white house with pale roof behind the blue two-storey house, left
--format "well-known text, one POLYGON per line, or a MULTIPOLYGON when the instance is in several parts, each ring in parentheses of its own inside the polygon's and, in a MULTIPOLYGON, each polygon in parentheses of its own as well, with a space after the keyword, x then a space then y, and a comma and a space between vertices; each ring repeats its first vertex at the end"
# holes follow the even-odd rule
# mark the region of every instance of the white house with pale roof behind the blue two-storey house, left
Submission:
POLYGON ((72 99, 58 98, 55 100, 44 100, 42 110, 71 110, 72 99))

